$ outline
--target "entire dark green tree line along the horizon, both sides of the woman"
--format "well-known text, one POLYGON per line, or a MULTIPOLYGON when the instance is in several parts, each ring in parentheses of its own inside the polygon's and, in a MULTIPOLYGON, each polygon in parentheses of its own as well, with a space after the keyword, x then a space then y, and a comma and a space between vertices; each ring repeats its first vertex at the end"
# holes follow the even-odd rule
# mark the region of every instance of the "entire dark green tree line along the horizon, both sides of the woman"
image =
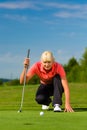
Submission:
MULTIPOLYGON (((87 82, 87 48, 85 48, 82 57, 77 61, 75 57, 69 59, 68 63, 63 65, 68 82, 87 82)), ((0 80, 0 85, 3 84, 3 80, 0 80)), ((9 80, 4 83, 5 85, 19 85, 19 79, 9 80)), ((38 76, 34 76, 29 84, 39 84, 38 76)))

